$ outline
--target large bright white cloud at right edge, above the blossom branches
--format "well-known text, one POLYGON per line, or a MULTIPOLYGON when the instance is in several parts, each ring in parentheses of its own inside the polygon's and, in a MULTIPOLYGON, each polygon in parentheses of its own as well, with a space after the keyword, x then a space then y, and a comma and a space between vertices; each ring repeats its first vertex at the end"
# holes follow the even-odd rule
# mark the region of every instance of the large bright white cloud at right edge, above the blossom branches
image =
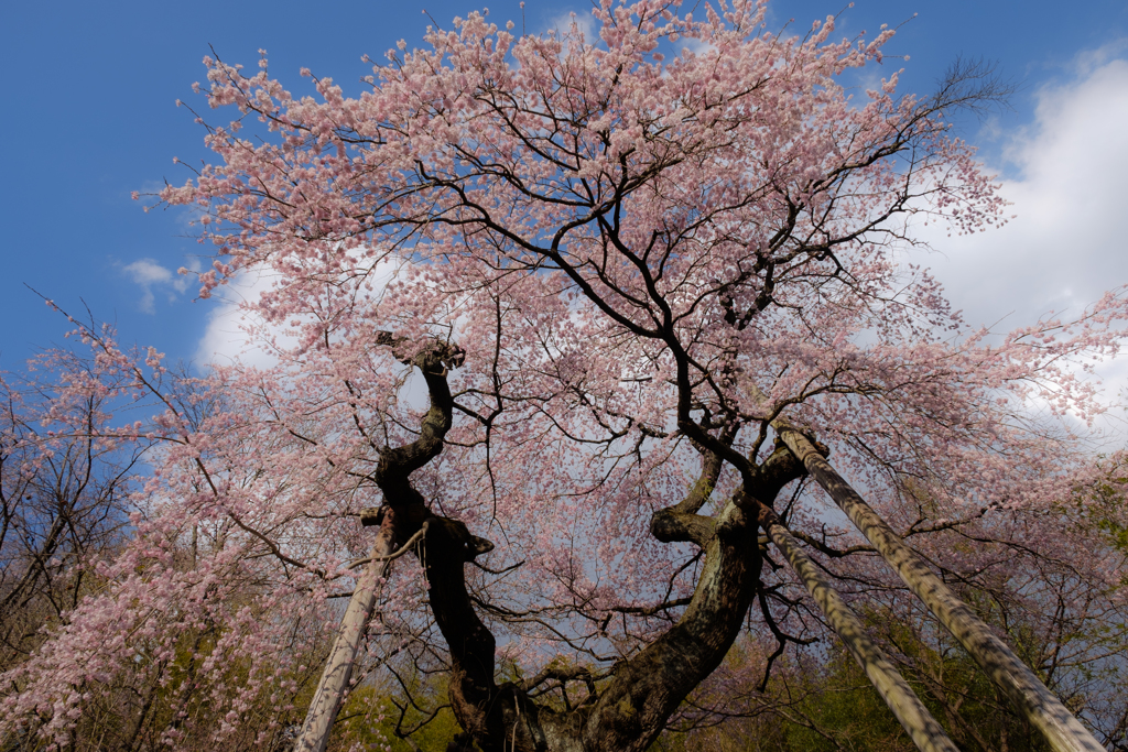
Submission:
POLYGON ((1011 329, 1050 311, 1076 315, 1128 283, 1128 61, 1107 54, 1078 56, 1077 78, 1041 89, 1034 123, 1005 147, 1019 168, 1003 184, 1016 219, 969 237, 926 236, 942 254, 926 262, 968 324, 1011 329))

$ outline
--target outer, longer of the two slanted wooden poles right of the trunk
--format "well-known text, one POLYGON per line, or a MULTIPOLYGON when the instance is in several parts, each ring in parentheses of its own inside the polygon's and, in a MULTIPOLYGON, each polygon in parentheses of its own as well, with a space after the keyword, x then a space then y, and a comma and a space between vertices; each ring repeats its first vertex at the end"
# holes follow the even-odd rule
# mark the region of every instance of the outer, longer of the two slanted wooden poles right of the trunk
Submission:
POLYGON ((1046 736, 1055 752, 1104 752, 1104 746, 1054 692, 901 541, 893 529, 830 467, 807 436, 783 421, 774 422, 773 426, 807 471, 944 628, 982 666, 1019 711, 1046 736))

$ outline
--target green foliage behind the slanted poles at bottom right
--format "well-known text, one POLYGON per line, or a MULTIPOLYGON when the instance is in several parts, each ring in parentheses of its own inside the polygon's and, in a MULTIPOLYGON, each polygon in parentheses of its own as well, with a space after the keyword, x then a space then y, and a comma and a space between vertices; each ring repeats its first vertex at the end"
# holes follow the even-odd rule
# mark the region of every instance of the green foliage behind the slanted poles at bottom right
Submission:
MULTIPOLYGON (((902 675, 932 715, 961 750, 1003 749, 1049 752, 1042 738, 999 696, 971 658, 918 623, 892 618, 890 612, 861 614, 898 663, 902 675)), ((989 616, 985 613, 984 616, 989 616)), ((1021 651, 1031 632, 1012 635, 1021 651)), ((749 640, 750 642, 750 640, 749 640)), ((738 644, 728 658, 739 670, 754 661, 738 644)), ((652 746, 653 752, 913 752, 916 747, 853 657, 835 644, 812 651, 804 661, 777 663, 764 692, 730 687, 731 697, 752 697, 744 717, 719 725, 671 729, 652 746)), ((714 700, 724 705, 717 693, 714 700)), ((702 705, 707 698, 697 697, 702 705)), ((734 706, 726 708, 737 713, 734 706)))

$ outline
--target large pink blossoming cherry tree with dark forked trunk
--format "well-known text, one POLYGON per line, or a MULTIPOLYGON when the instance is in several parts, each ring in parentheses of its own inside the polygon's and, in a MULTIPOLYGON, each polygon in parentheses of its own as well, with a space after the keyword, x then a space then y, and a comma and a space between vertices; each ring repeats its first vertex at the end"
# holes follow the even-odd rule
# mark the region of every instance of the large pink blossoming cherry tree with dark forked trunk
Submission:
POLYGON ((822 634, 767 533, 862 583, 848 601, 899 587, 828 538, 796 441, 949 573, 990 555, 917 541, 1095 483, 1084 370, 1118 352, 1123 295, 975 330, 902 253, 920 223, 1005 221, 948 125, 989 78, 858 96, 843 81, 891 30, 788 36, 744 1, 593 15, 598 38, 472 14, 355 98, 205 59, 209 105, 238 114, 159 201, 201 212, 203 297, 273 280, 247 310, 277 365, 217 368, 222 405, 192 416, 159 359, 85 330, 164 400, 164 449, 106 587, 6 676, 8 733, 62 745, 143 666, 152 743, 273 744, 359 594, 376 616, 334 664, 353 685, 408 691, 409 658, 484 750, 644 750, 741 634, 767 639, 765 682, 822 634))

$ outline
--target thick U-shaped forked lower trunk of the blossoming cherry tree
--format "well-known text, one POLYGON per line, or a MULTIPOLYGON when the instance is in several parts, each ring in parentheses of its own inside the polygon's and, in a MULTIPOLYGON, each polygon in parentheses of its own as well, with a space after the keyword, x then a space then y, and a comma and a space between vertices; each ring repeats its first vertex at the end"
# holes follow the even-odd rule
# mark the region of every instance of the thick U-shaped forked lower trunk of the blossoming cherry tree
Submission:
POLYGON ((705 550, 686 611, 651 645, 618 663, 598 696, 570 713, 538 705, 526 687, 496 684, 495 640, 474 611, 462 572, 479 551, 481 539, 452 521, 444 521, 434 534, 429 531, 431 608, 451 652, 450 700, 459 723, 483 750, 645 750, 689 692, 721 664, 759 582, 756 499, 774 498, 803 469, 777 448, 752 475, 754 489, 742 488, 716 517, 706 517, 698 512, 712 494, 721 461, 705 450, 703 457, 702 477, 689 495, 659 511, 651 527, 660 540, 694 541, 705 550))

